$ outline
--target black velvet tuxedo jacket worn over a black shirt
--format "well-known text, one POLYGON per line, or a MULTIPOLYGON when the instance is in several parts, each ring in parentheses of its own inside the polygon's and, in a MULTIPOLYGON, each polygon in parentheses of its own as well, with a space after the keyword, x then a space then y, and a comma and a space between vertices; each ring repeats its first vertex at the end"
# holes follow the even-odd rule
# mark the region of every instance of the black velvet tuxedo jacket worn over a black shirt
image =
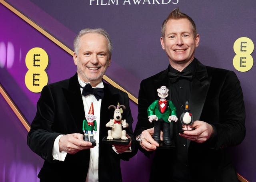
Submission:
MULTIPOLYGON (((240 144, 246 135, 245 108, 240 82, 233 71, 205 66, 197 59, 193 61, 196 61, 196 71, 192 80, 189 108, 194 121, 204 121, 214 127, 214 136, 201 144, 193 141, 189 143, 188 168, 192 172, 192 181, 237 182, 236 171, 227 147, 240 144)), ((170 90, 168 69, 141 81, 135 135, 154 127, 148 121, 147 108, 158 98, 157 89, 162 85, 166 85, 170 90)), ((171 94, 166 99, 172 100, 171 94)), ((174 135, 180 137, 178 131, 174 135)), ((141 147, 139 149, 149 156, 149 152, 141 147)), ((158 177, 170 176, 171 179, 170 168, 164 171, 160 166, 154 165, 170 166, 176 156, 175 149, 156 149, 154 162, 161 162, 153 162, 152 170, 155 171, 151 173, 161 174, 158 177)))

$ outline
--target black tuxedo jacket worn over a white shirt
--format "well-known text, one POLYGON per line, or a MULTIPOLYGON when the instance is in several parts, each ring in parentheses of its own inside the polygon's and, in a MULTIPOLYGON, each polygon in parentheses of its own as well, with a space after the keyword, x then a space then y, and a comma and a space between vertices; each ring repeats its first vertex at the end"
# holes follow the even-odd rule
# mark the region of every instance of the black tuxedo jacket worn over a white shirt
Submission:
MULTIPOLYGON (((137 152, 136 140, 132 131, 132 114, 127 93, 104 84, 104 98, 100 108, 100 133, 99 133, 99 181, 122 181, 120 159, 129 160, 137 152), (108 129, 105 125, 113 119, 114 110, 109 110, 109 105, 117 103, 126 106, 122 117, 126 119, 129 127, 125 130, 132 140, 132 152, 117 154, 112 149, 112 144, 102 142, 107 136, 108 129)), ((97 108, 94 108, 94 110, 97 108)), ((44 165, 38 174, 42 181, 74 181, 85 182, 89 168, 90 150, 81 150, 76 154, 67 154, 64 162, 53 160, 52 148, 58 135, 81 133, 85 118, 84 106, 77 73, 70 79, 46 85, 42 89, 37 103, 37 112, 28 133, 28 146, 44 159, 44 165)))

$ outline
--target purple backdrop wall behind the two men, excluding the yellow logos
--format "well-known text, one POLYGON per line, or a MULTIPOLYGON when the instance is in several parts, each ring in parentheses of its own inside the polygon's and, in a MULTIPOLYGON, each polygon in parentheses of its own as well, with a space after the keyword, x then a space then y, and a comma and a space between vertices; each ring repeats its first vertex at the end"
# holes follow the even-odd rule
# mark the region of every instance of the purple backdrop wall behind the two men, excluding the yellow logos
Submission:
MULTIPOLYGON (((0 2, 3 2, 0 0, 0 2)), ((256 125, 253 109, 256 107, 254 67, 247 72, 239 72, 232 65, 235 56, 233 44, 240 37, 256 42, 256 3, 233 1, 171 0, 168 4, 157 4, 162 0, 6 0, 22 14, 36 22, 52 36, 73 49, 76 32, 85 27, 102 27, 109 32, 114 49, 112 65, 106 75, 135 97, 138 97, 140 81, 165 69, 168 60, 160 46, 160 27, 168 13, 180 7, 197 24, 200 45, 196 57, 207 65, 230 69, 241 81, 246 105, 247 134, 244 142, 231 148, 237 172, 249 181, 256 181, 253 152, 256 148, 256 125), (90 6, 90 2, 92 5, 90 6), (100 5, 100 2, 106 5, 100 5), (108 2, 110 4, 108 5, 108 2), (116 4, 118 2, 118 4, 116 4), (126 2, 125 4, 123 4, 126 2), (137 1, 138 2, 138 1, 137 1), (145 2, 143 4, 143 2, 145 2), (150 4, 149 4, 150 2, 150 4), (155 4, 153 4, 155 2, 155 4), (177 4, 173 4, 176 3, 177 4)), ((164 0, 163 2, 168 2, 164 0)), ((36 102, 40 93, 32 93, 26 88, 24 77, 28 69, 25 65, 26 53, 33 47, 41 47, 48 53, 49 65, 46 72, 48 83, 68 78, 76 67, 72 56, 35 30, 12 11, 0 4, 0 83, 18 106, 26 120, 31 123, 36 112, 36 102)), ((252 57, 256 57, 255 51, 252 57)), ((26 179, 34 182, 42 159, 30 151, 26 145, 26 131, 12 113, 4 99, 1 103, 1 150, 0 181, 26 179), (13 134, 16 135, 13 135, 13 134), (2 158, 4 160, 2 160, 2 158), (15 167, 14 167, 15 166, 15 167), (26 166, 26 167, 25 167, 26 166), (14 175, 15 174, 15 175, 14 175)), ((135 127, 137 105, 131 101, 135 127)), ((147 181, 151 159, 138 152, 129 162, 122 162, 122 174, 126 181, 147 181), (132 174, 132 175, 131 175, 132 174)), ((22 180, 17 180, 22 181, 22 180)))

